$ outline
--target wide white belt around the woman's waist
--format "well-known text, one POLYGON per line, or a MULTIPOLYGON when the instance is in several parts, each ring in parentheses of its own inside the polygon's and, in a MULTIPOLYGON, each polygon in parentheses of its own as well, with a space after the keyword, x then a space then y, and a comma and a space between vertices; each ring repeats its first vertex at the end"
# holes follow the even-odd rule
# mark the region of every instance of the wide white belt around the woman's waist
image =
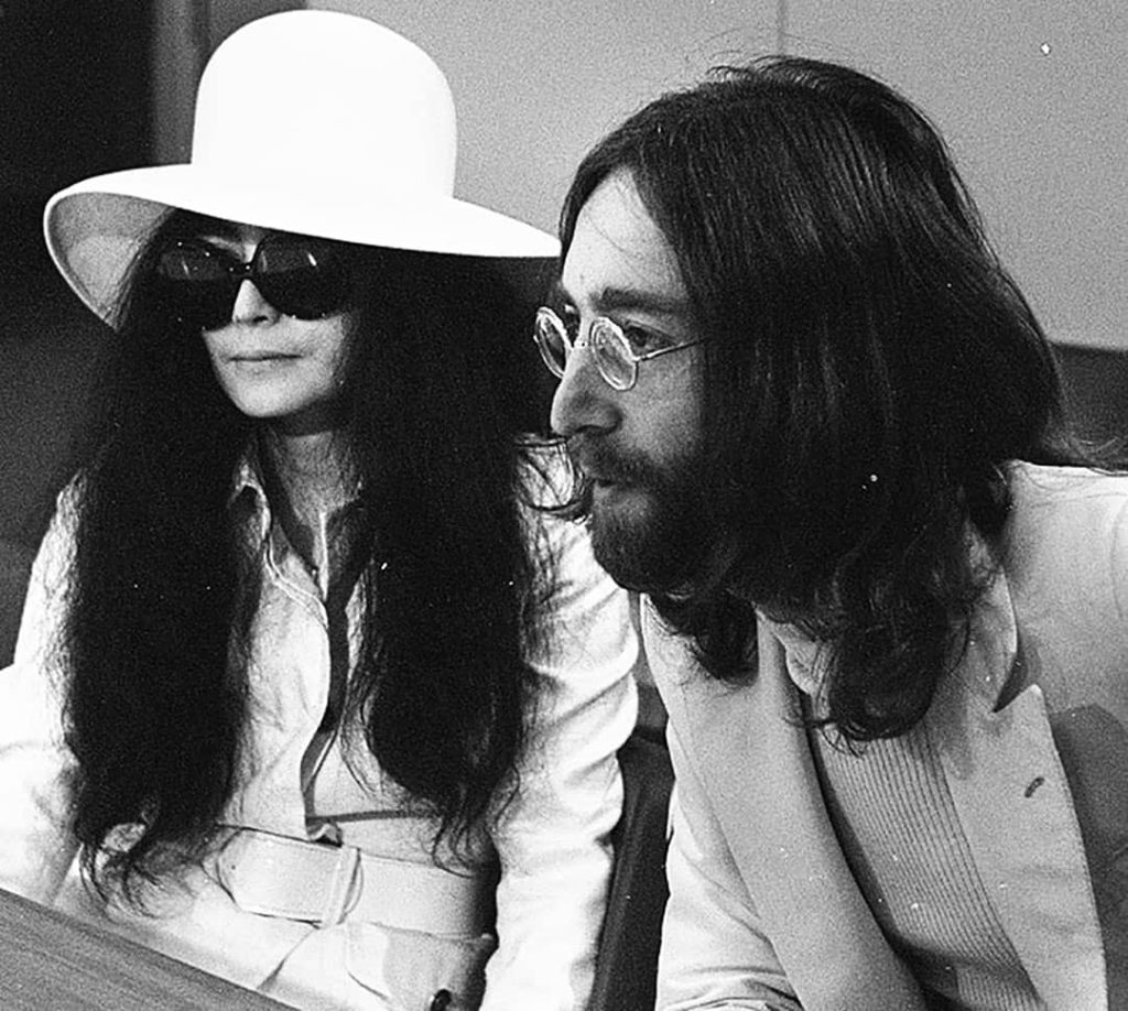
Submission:
POLYGON ((215 859, 220 883, 249 913, 319 926, 358 920, 432 934, 478 934, 488 876, 240 828, 215 859))

